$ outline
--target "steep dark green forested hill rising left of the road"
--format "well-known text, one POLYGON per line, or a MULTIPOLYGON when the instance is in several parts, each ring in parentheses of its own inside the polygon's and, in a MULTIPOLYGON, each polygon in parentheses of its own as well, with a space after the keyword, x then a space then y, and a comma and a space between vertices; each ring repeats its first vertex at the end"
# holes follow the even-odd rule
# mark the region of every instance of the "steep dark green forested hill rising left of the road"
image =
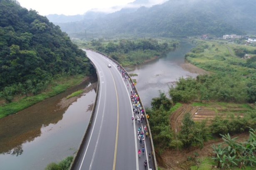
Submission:
POLYGON ((90 67, 59 26, 15 0, 0 0, 0 94, 7 101, 37 94, 57 75, 88 74, 90 67))

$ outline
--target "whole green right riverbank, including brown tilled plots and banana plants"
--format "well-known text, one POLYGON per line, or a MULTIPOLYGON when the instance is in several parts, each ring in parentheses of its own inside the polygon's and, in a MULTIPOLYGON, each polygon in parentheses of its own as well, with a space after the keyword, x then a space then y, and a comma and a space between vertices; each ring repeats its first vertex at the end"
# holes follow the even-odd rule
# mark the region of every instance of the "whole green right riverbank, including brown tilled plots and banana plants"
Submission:
POLYGON ((152 99, 152 108, 147 113, 156 152, 161 156, 177 149, 193 151, 222 137, 226 144, 213 146, 208 152, 208 155, 215 154, 213 158, 195 153, 186 160, 192 164, 183 168, 253 169, 256 165, 253 130, 256 129, 256 47, 223 41, 194 43, 196 47, 186 54, 186 59, 211 74, 180 78, 169 90, 170 99, 164 94, 152 99), (245 54, 250 57, 244 57, 245 54), (230 137, 244 132, 250 132, 249 140, 244 143, 236 143, 230 137))

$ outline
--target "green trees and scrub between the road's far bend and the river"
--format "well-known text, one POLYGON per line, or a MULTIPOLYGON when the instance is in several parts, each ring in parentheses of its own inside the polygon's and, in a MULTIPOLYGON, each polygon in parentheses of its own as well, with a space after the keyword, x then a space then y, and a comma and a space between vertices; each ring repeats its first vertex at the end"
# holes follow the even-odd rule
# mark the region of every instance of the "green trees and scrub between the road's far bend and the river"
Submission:
POLYGON ((78 46, 106 53, 122 66, 132 66, 150 61, 172 51, 179 46, 179 41, 171 39, 119 39, 92 41, 74 41, 78 46))

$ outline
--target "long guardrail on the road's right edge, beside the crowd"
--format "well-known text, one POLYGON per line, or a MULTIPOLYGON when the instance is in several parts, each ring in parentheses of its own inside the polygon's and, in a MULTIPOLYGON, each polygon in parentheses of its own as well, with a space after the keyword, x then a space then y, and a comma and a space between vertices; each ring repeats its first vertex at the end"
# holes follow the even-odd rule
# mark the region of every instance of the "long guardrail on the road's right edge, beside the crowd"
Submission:
MULTIPOLYGON (((121 67, 122 69, 124 69, 124 68, 122 67, 122 65, 120 65, 120 64, 119 64, 117 61, 115 61, 113 58, 111 58, 111 57, 107 56, 106 54, 101 53, 101 52, 99 52, 99 51, 96 51, 96 52, 99 53, 99 54, 101 54, 101 55, 103 55, 103 56, 105 56, 105 57, 107 57, 107 58, 109 58, 109 59, 112 60, 114 63, 116 63, 119 67, 121 67)), ((125 69, 124 69, 124 71, 127 73, 127 71, 126 71, 125 69)), ((128 75, 128 77, 130 78, 130 82, 133 83, 131 76, 130 76, 128 73, 127 73, 127 75, 128 75)), ((134 86, 134 87, 135 87, 135 92, 139 95, 136 86, 134 86)), ((142 101, 140 100, 140 97, 139 97, 139 102, 140 102, 140 104, 141 104, 141 107, 144 109, 145 115, 147 115, 147 114, 146 114, 146 110, 145 110, 145 108, 143 107, 142 101)), ((145 116, 145 118, 146 118, 146 120, 147 120, 147 127, 148 127, 148 130, 149 130, 149 138, 150 138, 150 140, 151 140, 150 143, 151 143, 152 155, 153 155, 152 159, 154 160, 154 161, 153 161, 153 165, 154 165, 155 170, 157 170, 157 159, 156 159, 156 154, 155 154, 155 150, 154 150, 154 144, 153 144, 152 134, 151 134, 150 126, 149 126, 149 120, 147 119, 147 116, 145 116)))

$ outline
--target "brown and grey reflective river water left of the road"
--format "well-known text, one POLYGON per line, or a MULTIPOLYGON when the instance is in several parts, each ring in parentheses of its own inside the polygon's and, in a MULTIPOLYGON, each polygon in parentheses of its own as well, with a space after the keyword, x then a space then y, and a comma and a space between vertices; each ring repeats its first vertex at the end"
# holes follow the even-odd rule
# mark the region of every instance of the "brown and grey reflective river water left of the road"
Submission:
POLYGON ((61 99, 96 80, 0 119, 0 170, 43 170, 77 150, 85 132, 96 92, 91 90, 61 108, 61 99))

